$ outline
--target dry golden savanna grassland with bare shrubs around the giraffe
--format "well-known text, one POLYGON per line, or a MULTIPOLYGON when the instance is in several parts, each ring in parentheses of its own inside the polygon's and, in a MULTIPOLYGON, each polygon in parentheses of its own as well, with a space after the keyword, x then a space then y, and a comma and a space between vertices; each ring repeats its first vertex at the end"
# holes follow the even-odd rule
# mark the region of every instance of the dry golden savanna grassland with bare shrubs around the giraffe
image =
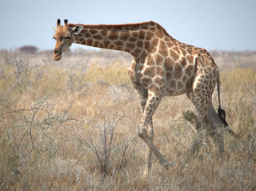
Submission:
MULTIPOLYGON (((225 155, 211 139, 184 169, 195 127, 185 95, 166 97, 154 114, 154 143, 138 139, 140 104, 129 80, 131 57, 114 51, 0 51, 0 190, 256 190, 256 52, 211 51, 221 69, 230 128, 225 155)), ((217 107, 217 92, 213 96, 217 107)))

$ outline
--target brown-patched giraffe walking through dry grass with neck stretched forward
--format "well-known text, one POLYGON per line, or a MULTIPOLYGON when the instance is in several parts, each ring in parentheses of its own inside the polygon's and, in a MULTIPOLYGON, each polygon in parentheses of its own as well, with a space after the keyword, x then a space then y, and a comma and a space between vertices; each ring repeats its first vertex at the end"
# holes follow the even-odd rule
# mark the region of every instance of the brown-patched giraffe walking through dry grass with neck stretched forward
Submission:
POLYGON ((227 126, 225 110, 220 105, 219 69, 211 55, 203 48, 179 42, 162 26, 153 21, 123 25, 83 25, 57 20, 56 46, 53 59, 59 61, 72 43, 110 50, 121 50, 133 56, 128 74, 139 97, 142 118, 138 136, 146 142, 145 174, 151 170, 152 152, 159 163, 170 163, 154 145, 152 116, 164 96, 186 94, 197 111, 197 137, 189 149, 189 160, 202 145, 205 131, 213 138, 219 153, 225 152, 222 125, 227 126), (219 109, 211 103, 217 84, 219 109))

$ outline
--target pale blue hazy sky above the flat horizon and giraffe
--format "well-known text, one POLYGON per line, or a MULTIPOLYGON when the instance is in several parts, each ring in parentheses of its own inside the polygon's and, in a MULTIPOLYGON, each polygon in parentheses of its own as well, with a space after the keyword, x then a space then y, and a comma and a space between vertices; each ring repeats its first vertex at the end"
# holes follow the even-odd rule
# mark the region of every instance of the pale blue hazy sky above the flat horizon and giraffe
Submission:
POLYGON ((84 24, 154 20, 179 41, 207 50, 256 50, 255 0, 1 0, 0 49, 53 49, 57 18, 84 24))

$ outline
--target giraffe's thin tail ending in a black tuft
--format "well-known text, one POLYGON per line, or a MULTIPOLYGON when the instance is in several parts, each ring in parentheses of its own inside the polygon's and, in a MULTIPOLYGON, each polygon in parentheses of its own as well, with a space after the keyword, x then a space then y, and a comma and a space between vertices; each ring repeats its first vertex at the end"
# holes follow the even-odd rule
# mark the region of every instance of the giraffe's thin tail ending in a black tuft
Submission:
POLYGON ((230 135, 239 138, 240 136, 236 133, 233 132, 230 128, 227 128, 228 123, 226 121, 226 112, 224 109, 222 109, 222 106, 220 106, 220 90, 219 90, 219 84, 220 84, 220 79, 219 79, 219 70, 217 70, 217 90, 218 90, 218 99, 219 99, 219 109, 218 109, 218 115, 220 120, 222 120, 223 125, 225 126, 225 130, 230 133, 230 135))

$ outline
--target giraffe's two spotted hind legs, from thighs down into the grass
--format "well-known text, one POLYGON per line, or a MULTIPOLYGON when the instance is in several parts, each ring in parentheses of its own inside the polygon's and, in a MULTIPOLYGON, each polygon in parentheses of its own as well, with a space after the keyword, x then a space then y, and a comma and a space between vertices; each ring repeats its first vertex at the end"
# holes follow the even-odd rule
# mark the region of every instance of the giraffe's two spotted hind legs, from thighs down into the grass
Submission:
MULTIPOLYGON (((198 71, 197 77, 192 87, 192 91, 187 93, 187 97, 192 101, 197 112, 197 120, 199 127, 197 128, 197 137, 189 151, 189 158, 195 155, 201 145, 206 133, 214 140, 214 144, 219 149, 219 153, 224 152, 223 136, 222 136, 222 121, 219 119, 217 112, 211 104, 211 97, 216 84, 214 72, 211 73, 211 79, 206 79, 206 71, 198 71)), ((209 75, 208 75, 209 76, 209 75)))

